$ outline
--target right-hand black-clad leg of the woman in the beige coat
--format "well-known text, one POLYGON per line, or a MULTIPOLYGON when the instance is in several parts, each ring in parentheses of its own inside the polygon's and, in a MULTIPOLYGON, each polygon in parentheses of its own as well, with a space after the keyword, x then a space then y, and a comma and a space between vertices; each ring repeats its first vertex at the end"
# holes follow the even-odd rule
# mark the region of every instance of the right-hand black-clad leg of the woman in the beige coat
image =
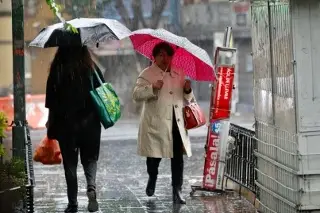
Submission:
MULTIPOLYGON (((174 117, 173 117, 174 118, 174 117)), ((185 200, 181 196, 181 189, 183 184, 183 143, 180 136, 179 128, 175 118, 172 124, 173 136, 173 158, 171 159, 171 173, 172 173, 172 191, 173 202, 185 204, 185 200)))

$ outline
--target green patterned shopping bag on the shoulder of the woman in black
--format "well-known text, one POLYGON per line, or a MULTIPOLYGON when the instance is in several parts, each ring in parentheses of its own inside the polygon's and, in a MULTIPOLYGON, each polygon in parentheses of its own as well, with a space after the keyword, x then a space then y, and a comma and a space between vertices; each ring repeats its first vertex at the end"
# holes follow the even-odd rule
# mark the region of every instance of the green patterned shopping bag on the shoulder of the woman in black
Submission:
POLYGON ((105 129, 112 127, 121 117, 120 101, 117 93, 110 83, 103 83, 94 70, 94 74, 100 86, 94 88, 93 75, 90 75, 91 87, 90 95, 96 106, 100 121, 105 129))

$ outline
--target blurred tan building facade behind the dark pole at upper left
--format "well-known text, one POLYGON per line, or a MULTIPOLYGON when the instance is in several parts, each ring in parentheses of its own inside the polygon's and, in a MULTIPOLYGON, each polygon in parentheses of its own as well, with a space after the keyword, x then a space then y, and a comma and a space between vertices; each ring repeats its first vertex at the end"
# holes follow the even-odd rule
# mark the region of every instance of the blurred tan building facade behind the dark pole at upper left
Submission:
MULTIPOLYGON (((24 38, 25 38, 25 73, 26 92, 42 94, 55 48, 29 48, 29 42, 39 31, 55 21, 55 17, 45 1, 26 0, 24 4, 24 38)), ((12 16, 11 1, 3 0, 0 4, 0 96, 13 92, 12 68, 12 16)))

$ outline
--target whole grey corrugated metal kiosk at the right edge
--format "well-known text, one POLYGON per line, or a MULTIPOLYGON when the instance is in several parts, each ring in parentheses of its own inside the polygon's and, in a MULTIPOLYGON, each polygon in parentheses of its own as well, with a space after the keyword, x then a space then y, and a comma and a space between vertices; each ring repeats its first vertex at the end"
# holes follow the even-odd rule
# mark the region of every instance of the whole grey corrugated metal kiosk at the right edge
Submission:
POLYGON ((261 212, 320 211, 320 1, 252 0, 261 212))

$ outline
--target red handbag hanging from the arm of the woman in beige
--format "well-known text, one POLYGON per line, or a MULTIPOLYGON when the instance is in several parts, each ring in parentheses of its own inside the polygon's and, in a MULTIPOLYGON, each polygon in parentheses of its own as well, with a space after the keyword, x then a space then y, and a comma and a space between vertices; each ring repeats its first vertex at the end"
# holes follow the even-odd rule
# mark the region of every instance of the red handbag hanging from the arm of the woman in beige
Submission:
POLYGON ((192 99, 183 109, 186 129, 195 129, 206 124, 206 117, 198 103, 192 99))

